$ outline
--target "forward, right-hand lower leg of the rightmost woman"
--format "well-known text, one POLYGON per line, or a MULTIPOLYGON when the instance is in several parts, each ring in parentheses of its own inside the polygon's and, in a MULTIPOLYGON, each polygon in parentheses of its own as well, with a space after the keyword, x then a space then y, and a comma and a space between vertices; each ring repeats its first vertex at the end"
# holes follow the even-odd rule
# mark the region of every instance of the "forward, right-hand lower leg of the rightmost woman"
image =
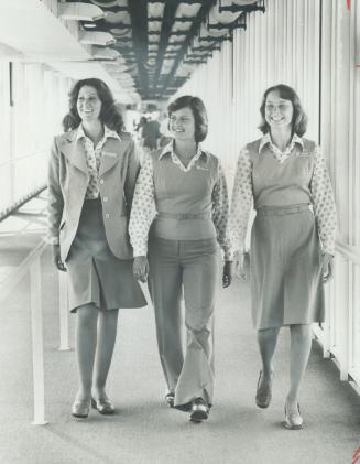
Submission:
POLYGON ((312 325, 296 324, 291 331, 291 388, 286 397, 286 410, 297 412, 298 391, 303 380, 308 357, 312 350, 312 325))

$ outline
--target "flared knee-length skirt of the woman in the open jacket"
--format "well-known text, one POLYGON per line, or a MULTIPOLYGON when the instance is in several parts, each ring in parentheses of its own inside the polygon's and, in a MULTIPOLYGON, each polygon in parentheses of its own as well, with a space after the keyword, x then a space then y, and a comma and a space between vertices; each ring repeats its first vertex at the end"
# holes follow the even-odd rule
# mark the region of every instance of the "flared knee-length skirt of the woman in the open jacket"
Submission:
POLYGON ((145 306, 132 263, 132 259, 122 260, 111 252, 100 199, 85 201, 65 263, 70 311, 91 303, 100 310, 145 306))

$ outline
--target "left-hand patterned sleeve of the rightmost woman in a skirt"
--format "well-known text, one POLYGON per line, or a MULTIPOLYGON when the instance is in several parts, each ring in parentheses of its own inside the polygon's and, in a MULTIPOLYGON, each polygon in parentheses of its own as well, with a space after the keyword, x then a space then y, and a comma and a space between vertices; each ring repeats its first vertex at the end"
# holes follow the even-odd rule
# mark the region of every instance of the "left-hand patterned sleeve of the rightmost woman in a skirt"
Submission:
POLYGON ((244 251, 249 216, 253 207, 251 174, 252 163, 249 151, 244 148, 238 159, 230 208, 230 240, 237 253, 244 251))

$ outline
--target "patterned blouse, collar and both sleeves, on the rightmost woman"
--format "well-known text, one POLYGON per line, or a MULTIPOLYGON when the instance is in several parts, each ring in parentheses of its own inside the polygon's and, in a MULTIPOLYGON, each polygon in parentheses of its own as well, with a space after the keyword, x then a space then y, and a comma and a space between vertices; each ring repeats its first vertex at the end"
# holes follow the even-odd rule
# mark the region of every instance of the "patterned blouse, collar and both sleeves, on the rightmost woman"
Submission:
MULTIPOLYGON (((268 145, 279 163, 283 163, 291 155, 295 143, 303 147, 303 140, 296 134, 294 134, 291 144, 285 151, 281 152, 281 150, 272 143, 270 134, 266 133, 260 142, 259 153, 268 145)), ((326 169, 325 159, 321 155, 318 145, 315 148, 314 157, 315 168, 309 185, 314 214, 323 244, 323 251, 334 255, 337 217, 332 187, 326 169)), ((247 148, 244 148, 241 150, 238 159, 229 222, 231 242, 237 252, 243 252, 244 250, 249 215, 252 208, 252 164, 249 152, 247 148)))

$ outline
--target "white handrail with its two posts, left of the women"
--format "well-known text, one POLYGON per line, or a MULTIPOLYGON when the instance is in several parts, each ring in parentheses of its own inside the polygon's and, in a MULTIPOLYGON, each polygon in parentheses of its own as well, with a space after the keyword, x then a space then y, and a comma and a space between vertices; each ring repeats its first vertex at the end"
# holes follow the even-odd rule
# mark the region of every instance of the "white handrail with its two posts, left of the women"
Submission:
MULTIPOLYGON (((18 283, 30 274, 30 309, 32 331, 32 360, 34 386, 34 425, 46 424, 44 395, 44 346, 43 346, 43 314, 42 314, 42 278, 40 259, 47 248, 41 242, 29 253, 21 265, 0 284, 0 303, 15 289, 18 283)), ((68 344, 68 309, 66 281, 59 272, 59 349, 70 349, 68 344)))

